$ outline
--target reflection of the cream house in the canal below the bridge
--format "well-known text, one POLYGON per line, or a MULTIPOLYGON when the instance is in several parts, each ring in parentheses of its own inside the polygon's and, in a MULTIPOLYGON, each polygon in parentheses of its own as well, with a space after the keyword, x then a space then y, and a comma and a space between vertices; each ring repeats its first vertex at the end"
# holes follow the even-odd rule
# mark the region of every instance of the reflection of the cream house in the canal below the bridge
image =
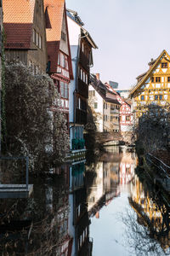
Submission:
POLYGON ((119 148, 113 147, 103 154, 97 164, 88 167, 88 172, 94 172, 94 180, 89 183, 87 180, 88 192, 88 214, 99 218, 99 210, 108 205, 114 197, 120 194, 119 191, 119 148), (90 171, 91 168, 91 171, 90 171))

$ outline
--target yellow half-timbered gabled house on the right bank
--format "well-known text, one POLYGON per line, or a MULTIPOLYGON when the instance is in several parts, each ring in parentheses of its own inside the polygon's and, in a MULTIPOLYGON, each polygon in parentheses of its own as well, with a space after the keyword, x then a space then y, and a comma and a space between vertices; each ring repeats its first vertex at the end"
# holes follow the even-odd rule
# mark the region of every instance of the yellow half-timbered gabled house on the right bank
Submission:
POLYGON ((170 102, 170 55, 164 49, 156 60, 151 60, 149 70, 139 75, 138 83, 130 91, 133 110, 137 117, 150 104, 167 108, 170 102))

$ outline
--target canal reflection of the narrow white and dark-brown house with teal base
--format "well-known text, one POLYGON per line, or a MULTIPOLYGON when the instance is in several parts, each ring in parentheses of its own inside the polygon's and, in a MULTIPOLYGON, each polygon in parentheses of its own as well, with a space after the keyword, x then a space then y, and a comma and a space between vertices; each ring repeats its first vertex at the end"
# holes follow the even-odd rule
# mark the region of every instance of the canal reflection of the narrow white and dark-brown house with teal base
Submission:
POLYGON ((85 166, 83 161, 71 165, 69 195, 69 234, 72 238, 71 256, 90 256, 92 253, 84 175, 85 166))

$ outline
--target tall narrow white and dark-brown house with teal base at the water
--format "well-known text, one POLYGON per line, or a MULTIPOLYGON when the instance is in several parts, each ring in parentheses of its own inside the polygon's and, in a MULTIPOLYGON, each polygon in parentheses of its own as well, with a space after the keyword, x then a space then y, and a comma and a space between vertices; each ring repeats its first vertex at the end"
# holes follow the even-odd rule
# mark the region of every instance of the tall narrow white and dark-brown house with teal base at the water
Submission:
POLYGON ((71 149, 83 149, 83 130, 87 123, 89 74, 90 67, 93 66, 92 49, 97 49, 97 45, 83 27, 84 24, 77 12, 67 10, 67 20, 74 76, 69 88, 71 149))

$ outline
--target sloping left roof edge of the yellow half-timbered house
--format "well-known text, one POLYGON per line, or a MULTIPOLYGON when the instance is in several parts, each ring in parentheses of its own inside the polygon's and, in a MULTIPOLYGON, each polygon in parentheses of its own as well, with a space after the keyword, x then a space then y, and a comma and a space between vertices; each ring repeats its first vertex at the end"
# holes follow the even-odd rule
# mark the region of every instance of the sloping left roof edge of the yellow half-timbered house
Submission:
POLYGON ((150 74, 154 71, 156 66, 158 65, 159 61, 161 60, 161 57, 167 54, 167 51, 165 49, 162 50, 161 55, 155 60, 153 65, 150 67, 150 69, 147 71, 147 73, 144 75, 143 79, 139 80, 139 83, 137 83, 133 89, 130 91, 129 96, 132 96, 133 93, 139 89, 139 87, 144 84, 144 82, 150 77, 150 74))

